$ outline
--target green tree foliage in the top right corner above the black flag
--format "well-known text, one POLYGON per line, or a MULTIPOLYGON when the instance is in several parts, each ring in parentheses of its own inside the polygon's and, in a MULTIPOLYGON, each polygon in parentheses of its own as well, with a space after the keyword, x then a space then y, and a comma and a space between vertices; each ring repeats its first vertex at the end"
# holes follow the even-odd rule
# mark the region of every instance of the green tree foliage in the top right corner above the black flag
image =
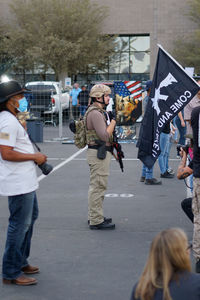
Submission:
POLYGON ((200 0, 189 1, 188 17, 197 24, 193 34, 177 39, 174 43, 173 55, 184 66, 194 67, 200 73, 200 0))

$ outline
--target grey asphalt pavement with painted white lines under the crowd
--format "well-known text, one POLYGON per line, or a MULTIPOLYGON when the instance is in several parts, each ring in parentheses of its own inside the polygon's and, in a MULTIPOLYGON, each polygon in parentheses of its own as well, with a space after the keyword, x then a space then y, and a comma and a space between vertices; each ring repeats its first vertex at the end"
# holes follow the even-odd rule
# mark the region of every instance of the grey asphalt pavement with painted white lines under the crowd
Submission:
MULTIPOLYGON (((142 164, 136 159, 134 144, 122 145, 124 173, 116 161, 111 162, 104 213, 113 218, 114 231, 88 228, 86 151, 75 156, 78 149, 72 144, 54 142, 40 146, 58 169, 40 177, 37 192, 40 216, 32 239, 30 263, 40 267, 40 274, 35 275, 38 284, 19 287, 0 283, 1 300, 129 299, 157 232, 181 227, 192 239, 192 224, 180 208, 186 195, 184 182, 174 178, 162 179, 161 186, 140 183, 142 164)), ((175 155, 173 145, 170 166, 174 170, 179 162, 175 155)), ((38 169, 38 176, 39 172, 38 169)), ((156 163, 154 176, 159 175, 156 163)), ((8 215, 7 198, 0 197, 1 258, 8 215)))

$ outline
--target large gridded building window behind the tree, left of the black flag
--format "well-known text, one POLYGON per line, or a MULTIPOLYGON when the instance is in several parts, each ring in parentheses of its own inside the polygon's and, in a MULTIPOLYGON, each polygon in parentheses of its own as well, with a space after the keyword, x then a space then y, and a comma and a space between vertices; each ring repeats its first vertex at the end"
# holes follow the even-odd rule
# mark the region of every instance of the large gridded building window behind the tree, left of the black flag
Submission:
MULTIPOLYGON (((140 80, 150 77, 150 36, 124 35, 116 39, 115 54, 109 57, 108 69, 84 74, 85 81, 140 80)), ((78 76, 78 80, 83 74, 78 76)))

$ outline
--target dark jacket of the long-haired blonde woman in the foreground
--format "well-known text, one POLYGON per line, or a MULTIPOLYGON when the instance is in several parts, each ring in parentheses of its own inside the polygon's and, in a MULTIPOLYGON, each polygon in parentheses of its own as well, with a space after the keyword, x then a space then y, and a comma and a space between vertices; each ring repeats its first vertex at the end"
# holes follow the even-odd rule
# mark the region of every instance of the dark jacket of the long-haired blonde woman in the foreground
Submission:
MULTIPOLYGON (((137 284, 134 286, 130 300, 140 300, 134 297, 137 284)), ((179 280, 171 280, 170 295, 173 300, 200 300, 200 274, 181 273, 179 280)), ((163 300, 163 290, 157 289, 152 300, 163 300)))

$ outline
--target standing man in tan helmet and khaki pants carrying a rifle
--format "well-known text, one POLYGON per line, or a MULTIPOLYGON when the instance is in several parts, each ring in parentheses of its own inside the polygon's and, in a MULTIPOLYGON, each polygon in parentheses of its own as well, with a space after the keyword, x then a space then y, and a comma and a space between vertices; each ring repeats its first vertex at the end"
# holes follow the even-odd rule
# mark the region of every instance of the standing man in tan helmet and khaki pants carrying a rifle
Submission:
MULTIPOLYGON (((90 97, 92 105, 86 112, 86 138, 88 144, 87 162, 90 167, 88 191, 88 223, 90 229, 114 229, 111 218, 103 215, 104 193, 107 188, 109 166, 112 156, 112 136, 116 125, 110 120, 104 107, 109 104, 111 90, 98 84, 92 87, 90 97), (103 153, 99 148, 103 145, 103 153)), ((101 148, 102 149, 102 148, 101 148)))

